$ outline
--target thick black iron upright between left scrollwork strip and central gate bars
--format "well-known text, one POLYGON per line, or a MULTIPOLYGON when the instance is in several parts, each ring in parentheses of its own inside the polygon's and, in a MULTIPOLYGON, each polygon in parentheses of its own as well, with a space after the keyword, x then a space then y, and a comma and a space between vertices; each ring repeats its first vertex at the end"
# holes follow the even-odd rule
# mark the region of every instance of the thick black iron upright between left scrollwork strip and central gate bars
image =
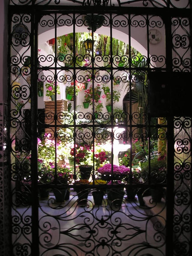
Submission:
POLYGON ((31 12, 31 177, 32 177, 32 255, 39 255, 38 233, 38 155, 37 155, 37 67, 38 67, 38 22, 35 10, 31 12), (35 37, 34 37, 35 35, 35 37), (35 85, 35 86, 32 86, 35 85))

